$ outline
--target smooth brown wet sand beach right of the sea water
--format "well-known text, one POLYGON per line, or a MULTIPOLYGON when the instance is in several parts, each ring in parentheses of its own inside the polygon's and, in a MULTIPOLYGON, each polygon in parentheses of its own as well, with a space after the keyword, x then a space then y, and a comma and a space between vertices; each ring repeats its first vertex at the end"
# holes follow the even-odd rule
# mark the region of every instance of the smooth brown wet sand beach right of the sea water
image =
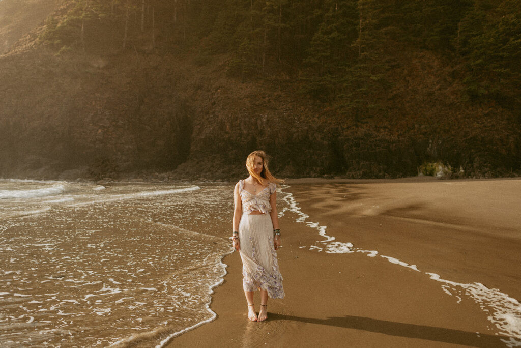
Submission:
MULTIPOLYGON (((500 339, 509 334, 488 319, 488 307, 426 273, 482 283, 521 300, 521 180, 288 184, 307 221, 378 255, 310 250, 324 238, 287 212, 278 252, 286 298, 269 301, 268 320, 247 320, 241 260, 233 253, 223 260, 228 275, 210 306, 217 319, 173 338, 170 346, 506 346, 500 339)), ((255 304, 258 310, 258 293, 255 304)))

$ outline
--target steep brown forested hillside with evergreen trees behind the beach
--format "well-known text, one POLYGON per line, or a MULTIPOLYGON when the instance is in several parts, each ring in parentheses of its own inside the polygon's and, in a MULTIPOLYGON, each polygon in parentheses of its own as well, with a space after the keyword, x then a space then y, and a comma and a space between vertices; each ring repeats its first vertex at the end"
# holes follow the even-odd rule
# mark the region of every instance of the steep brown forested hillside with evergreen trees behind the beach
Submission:
POLYGON ((0 56, 0 176, 518 175, 520 61, 516 0, 61 0, 0 56))

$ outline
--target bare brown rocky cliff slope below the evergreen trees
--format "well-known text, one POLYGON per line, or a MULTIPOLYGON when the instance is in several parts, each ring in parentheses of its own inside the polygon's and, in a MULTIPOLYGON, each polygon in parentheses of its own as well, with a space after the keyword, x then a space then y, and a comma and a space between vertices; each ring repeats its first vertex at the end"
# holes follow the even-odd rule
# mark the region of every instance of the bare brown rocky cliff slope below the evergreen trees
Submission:
POLYGON ((294 78, 233 76, 205 40, 58 53, 36 27, 0 56, 2 177, 234 179, 257 149, 281 177, 395 178, 436 160, 467 177, 520 169, 519 116, 469 99, 458 68, 426 49, 395 57, 379 108, 359 118, 294 78))

